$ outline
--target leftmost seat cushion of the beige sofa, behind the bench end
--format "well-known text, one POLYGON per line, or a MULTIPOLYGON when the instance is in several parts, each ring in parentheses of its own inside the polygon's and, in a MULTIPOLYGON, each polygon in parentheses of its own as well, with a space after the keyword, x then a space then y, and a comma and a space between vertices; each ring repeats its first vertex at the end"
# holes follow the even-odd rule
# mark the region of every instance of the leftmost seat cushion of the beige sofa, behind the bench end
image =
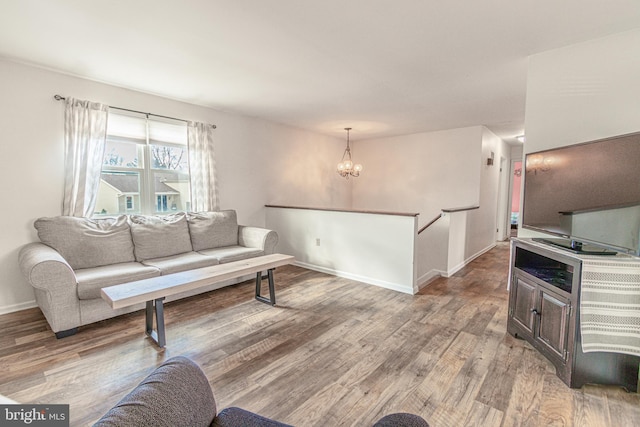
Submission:
POLYGON ((139 262, 126 262, 76 270, 78 299, 101 298, 100 289, 106 286, 158 276, 160 276, 160 270, 139 262))

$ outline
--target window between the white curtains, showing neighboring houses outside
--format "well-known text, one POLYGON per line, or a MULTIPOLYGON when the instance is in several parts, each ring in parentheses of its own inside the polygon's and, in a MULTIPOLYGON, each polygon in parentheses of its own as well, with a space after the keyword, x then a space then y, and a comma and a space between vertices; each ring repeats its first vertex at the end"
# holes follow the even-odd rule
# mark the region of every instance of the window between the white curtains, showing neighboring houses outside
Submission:
POLYGON ((110 109, 95 214, 188 210, 186 123, 110 109))

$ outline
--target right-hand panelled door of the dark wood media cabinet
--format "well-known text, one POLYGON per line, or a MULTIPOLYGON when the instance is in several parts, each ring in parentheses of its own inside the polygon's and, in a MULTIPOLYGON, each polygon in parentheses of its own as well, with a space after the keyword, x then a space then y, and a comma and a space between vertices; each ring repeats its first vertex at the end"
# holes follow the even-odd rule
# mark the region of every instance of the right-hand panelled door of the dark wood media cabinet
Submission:
POLYGON ((535 339, 552 354, 566 360, 567 326, 570 302, 545 289, 540 289, 539 323, 535 339))

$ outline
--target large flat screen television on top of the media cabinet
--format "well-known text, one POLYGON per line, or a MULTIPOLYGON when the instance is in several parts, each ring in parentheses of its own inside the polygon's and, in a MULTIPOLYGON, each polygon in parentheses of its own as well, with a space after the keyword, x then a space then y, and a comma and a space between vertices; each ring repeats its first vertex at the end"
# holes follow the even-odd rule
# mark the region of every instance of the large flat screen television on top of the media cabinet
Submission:
POLYGON ((640 132, 527 154, 523 198, 536 240, 640 256, 640 132))

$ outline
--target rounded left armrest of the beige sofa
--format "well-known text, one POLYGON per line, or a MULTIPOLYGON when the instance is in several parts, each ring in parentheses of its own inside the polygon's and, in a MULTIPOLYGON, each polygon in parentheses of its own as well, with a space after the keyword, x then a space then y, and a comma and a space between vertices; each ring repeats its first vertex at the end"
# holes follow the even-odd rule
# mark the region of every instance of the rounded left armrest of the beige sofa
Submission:
POLYGON ((78 282, 69 263, 55 249, 39 242, 23 246, 18 263, 53 332, 79 326, 78 282))

